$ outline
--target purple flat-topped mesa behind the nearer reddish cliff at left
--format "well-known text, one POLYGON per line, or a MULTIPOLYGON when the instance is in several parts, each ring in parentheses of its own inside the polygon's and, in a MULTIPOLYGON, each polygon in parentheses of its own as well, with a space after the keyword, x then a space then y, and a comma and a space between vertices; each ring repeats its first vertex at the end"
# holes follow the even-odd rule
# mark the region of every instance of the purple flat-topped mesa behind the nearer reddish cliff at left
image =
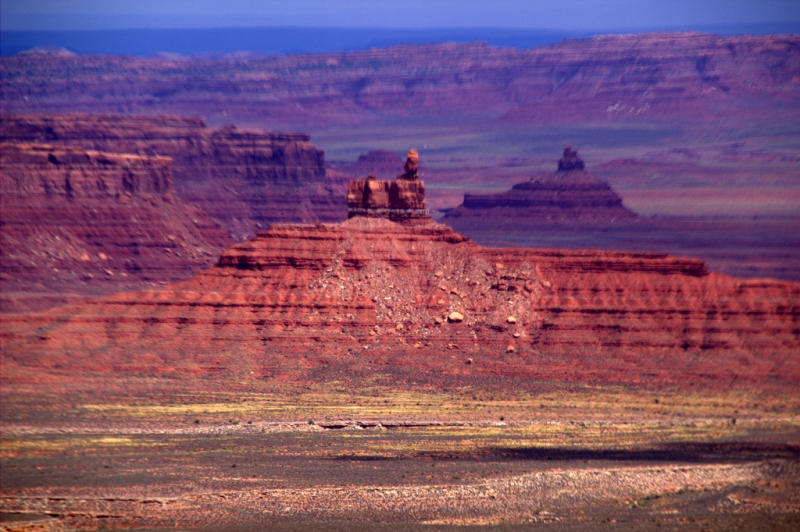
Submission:
POLYGON ((0 140, 172 158, 176 194, 235 238, 272 222, 342 220, 325 157, 307 135, 211 129, 200 119, 118 115, 0 117, 0 140))

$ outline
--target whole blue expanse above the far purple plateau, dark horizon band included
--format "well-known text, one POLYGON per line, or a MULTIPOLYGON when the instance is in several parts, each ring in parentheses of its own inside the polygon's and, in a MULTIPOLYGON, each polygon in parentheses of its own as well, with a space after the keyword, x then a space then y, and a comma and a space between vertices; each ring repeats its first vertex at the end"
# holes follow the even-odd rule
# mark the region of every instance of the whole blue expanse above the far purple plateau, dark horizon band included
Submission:
POLYGON ((795 0, 5 0, 0 54, 297 54, 606 33, 800 33, 795 0))

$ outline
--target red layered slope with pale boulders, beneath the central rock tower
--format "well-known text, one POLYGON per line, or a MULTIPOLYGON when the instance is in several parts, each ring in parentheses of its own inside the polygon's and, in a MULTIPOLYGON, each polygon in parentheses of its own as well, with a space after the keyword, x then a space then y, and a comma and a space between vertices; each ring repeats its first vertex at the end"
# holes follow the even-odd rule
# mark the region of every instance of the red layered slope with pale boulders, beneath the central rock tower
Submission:
MULTIPOLYGON (((796 387, 800 285, 430 222, 275 225, 158 290, 2 318, 4 379, 522 378, 796 387), (80 377, 76 377, 80 376, 80 377)), ((449 380, 448 380, 449 379, 449 380)))

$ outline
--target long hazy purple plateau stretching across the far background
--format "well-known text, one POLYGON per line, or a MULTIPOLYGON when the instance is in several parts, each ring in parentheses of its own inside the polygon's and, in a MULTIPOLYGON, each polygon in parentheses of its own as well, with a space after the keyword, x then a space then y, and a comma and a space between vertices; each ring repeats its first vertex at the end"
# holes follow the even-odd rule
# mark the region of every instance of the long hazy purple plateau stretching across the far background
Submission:
POLYGON ((390 116, 783 120, 797 115, 800 38, 656 33, 529 50, 476 43, 195 59, 27 54, 2 65, 4 106, 16 113, 199 113, 303 128, 390 116))

